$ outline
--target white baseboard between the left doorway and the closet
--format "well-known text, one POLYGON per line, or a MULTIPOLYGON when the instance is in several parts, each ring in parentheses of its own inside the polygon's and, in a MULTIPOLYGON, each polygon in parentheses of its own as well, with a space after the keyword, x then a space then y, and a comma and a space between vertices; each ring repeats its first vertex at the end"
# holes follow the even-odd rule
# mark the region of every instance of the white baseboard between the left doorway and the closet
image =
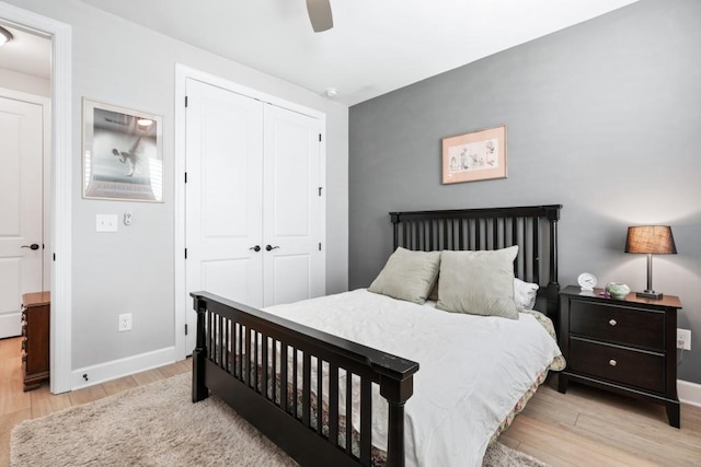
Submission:
POLYGON ((84 366, 71 372, 70 387, 71 390, 82 389, 84 387, 102 384, 106 381, 168 365, 179 360, 182 360, 182 357, 177 357, 175 347, 166 347, 164 349, 128 357, 126 359, 113 360, 99 365, 84 366))

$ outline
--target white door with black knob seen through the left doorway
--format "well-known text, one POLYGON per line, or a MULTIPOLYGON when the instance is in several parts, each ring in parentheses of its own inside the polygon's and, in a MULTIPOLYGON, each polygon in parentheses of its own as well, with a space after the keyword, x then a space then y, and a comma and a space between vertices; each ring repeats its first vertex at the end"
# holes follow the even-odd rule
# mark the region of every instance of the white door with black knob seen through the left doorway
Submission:
POLYGON ((0 338, 20 335, 22 294, 43 290, 43 112, 0 96, 0 338))

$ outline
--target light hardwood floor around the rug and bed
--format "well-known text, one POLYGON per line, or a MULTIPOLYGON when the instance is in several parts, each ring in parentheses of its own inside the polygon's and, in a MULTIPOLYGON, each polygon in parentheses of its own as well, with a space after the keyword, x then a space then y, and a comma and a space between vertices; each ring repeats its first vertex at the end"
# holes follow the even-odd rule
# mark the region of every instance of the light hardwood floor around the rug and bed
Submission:
MULTIPOLYGON (((0 467, 10 464, 10 433, 26 419, 191 371, 191 360, 53 396, 45 384, 22 392, 20 338, 0 340, 0 467)), ((681 430, 655 404, 571 384, 566 395, 552 375, 514 424, 504 444, 558 466, 700 466, 701 408, 682 406, 681 430)))

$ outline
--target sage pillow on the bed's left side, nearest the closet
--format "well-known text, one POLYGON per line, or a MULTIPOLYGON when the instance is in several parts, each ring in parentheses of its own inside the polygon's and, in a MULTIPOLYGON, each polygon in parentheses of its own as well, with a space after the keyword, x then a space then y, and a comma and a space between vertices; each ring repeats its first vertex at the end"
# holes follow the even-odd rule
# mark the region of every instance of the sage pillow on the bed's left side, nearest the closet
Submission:
POLYGON ((424 304, 436 282, 439 266, 440 252, 412 252, 400 246, 368 290, 424 304))

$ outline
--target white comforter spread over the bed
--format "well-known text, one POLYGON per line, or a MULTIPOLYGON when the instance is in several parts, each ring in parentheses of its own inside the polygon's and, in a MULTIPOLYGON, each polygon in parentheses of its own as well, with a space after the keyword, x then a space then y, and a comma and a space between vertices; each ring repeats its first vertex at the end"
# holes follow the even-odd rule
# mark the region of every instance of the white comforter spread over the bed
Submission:
MULTIPOLYGON (((481 466, 499 423, 561 352, 531 315, 514 320, 434 305, 360 289, 266 312, 418 362, 405 405, 406 464, 481 466)), ((387 450, 387 402, 374 394, 372 444, 387 450)))

